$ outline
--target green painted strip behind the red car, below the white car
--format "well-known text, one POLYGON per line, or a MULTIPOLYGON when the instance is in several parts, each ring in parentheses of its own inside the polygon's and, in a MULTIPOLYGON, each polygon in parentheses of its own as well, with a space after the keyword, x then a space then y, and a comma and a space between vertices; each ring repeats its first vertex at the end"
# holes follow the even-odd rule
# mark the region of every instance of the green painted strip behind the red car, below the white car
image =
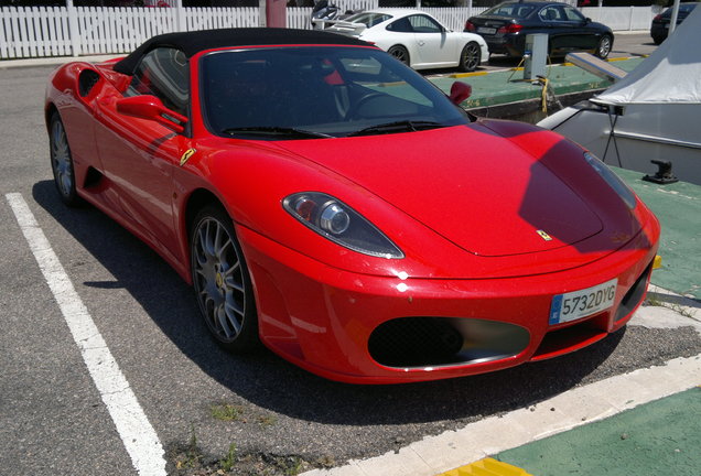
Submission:
MULTIPOLYGON (((630 72, 643 60, 623 60, 613 64, 621 69, 630 72)), ((607 88, 612 85, 612 83, 586 73, 576 66, 552 65, 548 69, 548 79, 556 95, 607 88)), ((461 77, 459 80, 472 86, 472 96, 461 106, 468 109, 539 98, 542 94, 542 87, 519 80, 522 77, 524 73, 520 71, 494 72, 481 76, 461 77)), ((445 93, 450 91, 451 85, 456 80, 453 77, 432 77, 430 79, 445 93)))

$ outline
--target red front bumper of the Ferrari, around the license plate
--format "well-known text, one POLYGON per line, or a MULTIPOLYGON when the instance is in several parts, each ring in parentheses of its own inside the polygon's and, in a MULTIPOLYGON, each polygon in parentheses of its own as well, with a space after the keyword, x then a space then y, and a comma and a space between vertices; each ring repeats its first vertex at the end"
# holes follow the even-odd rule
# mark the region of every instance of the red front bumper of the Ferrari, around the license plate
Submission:
MULTIPOLYGON (((653 230, 654 239, 645 231, 615 252, 568 271, 509 279, 441 280, 401 279, 401 261, 397 261, 397 278, 352 273, 300 255, 250 229, 237 229, 254 281, 261 340, 313 374, 352 383, 435 380, 488 372, 563 355, 604 338, 626 324, 645 296, 659 228, 653 230), (618 281, 612 307, 570 323, 549 325, 554 295, 614 278, 618 281), (387 323, 401 324, 408 318, 423 321, 419 327, 411 325, 403 331, 419 328, 416 332, 430 333, 433 327, 430 325, 427 331, 427 322, 440 323, 435 328, 457 328, 465 340, 462 347, 457 346, 460 353, 443 360, 436 360, 434 355, 424 356, 425 361, 420 355, 413 356, 406 365, 391 356, 385 358, 381 346, 391 345, 391 339, 386 338, 391 334, 385 332, 378 340, 378 329, 387 331, 387 323), (485 337, 485 332, 492 336, 485 337), (509 340, 506 347, 487 349, 486 354, 470 351, 475 347, 484 350, 488 343, 498 342, 499 333, 509 340), (375 349, 370 349, 371 338, 375 349)), ((390 327, 390 333, 401 332, 397 331, 400 327, 390 327)), ((429 340, 429 336, 422 339, 421 335, 409 342, 429 340)), ((455 333, 449 339, 454 337, 455 333)))

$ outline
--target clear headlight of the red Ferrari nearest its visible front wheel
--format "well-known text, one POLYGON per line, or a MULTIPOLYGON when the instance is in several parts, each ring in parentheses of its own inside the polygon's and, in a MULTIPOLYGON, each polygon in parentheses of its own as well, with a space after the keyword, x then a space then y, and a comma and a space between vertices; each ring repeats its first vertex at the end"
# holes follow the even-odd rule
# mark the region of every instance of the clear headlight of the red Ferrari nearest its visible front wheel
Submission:
POLYGON ((381 258, 405 257, 371 223, 331 195, 298 193, 283 199, 282 206, 294 218, 345 248, 381 258))

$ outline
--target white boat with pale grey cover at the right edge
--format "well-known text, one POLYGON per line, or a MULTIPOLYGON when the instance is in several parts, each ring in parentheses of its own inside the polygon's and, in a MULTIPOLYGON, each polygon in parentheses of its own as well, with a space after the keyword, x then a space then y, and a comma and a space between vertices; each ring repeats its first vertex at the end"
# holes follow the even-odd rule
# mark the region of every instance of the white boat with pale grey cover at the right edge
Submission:
POLYGON ((671 162, 701 185, 701 8, 633 72, 594 98, 539 122, 606 163, 653 174, 671 162))

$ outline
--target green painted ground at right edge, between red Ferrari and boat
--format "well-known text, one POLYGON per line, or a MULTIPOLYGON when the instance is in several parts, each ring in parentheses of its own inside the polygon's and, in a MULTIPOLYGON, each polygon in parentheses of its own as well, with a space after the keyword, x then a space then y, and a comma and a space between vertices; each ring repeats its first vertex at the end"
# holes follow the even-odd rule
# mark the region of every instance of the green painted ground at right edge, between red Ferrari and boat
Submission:
POLYGON ((640 172, 612 169, 655 212, 662 226, 658 252, 662 268, 653 272, 653 283, 701 299, 701 186, 686 182, 657 185, 640 180, 640 172))

